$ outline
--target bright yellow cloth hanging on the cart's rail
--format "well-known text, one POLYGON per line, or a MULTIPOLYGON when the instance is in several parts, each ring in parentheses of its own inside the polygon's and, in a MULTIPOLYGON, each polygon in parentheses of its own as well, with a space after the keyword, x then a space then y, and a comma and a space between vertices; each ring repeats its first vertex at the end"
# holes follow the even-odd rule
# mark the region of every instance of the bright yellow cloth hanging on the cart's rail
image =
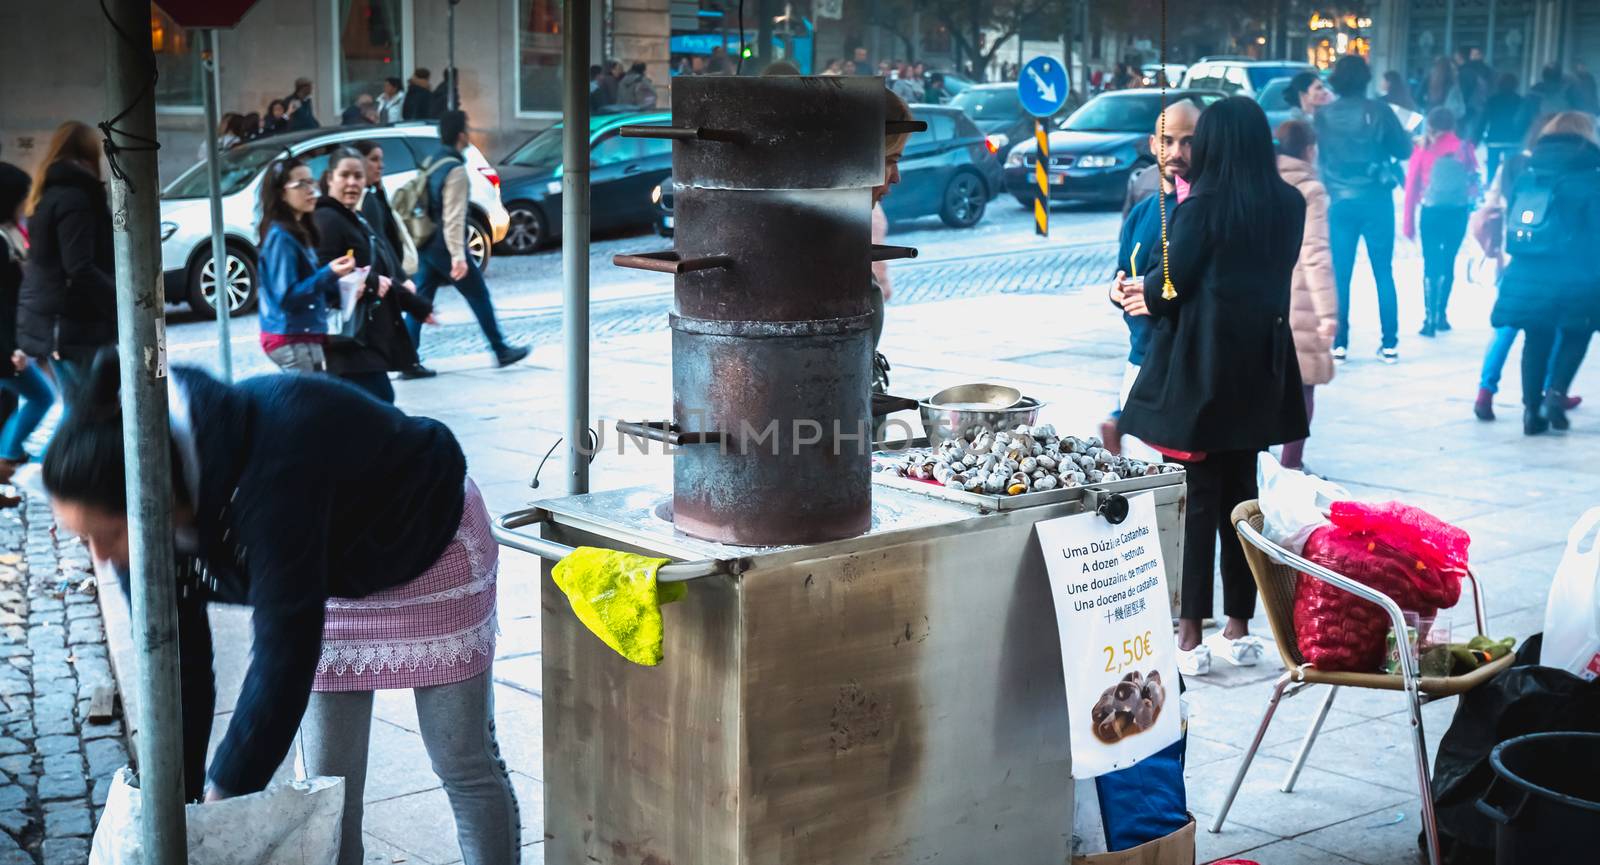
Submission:
POLYGON ((683 598, 682 582, 658 584, 672 560, 578 547, 555 563, 550 577, 573 612, 606 646, 634 664, 661 664, 661 604, 683 598))

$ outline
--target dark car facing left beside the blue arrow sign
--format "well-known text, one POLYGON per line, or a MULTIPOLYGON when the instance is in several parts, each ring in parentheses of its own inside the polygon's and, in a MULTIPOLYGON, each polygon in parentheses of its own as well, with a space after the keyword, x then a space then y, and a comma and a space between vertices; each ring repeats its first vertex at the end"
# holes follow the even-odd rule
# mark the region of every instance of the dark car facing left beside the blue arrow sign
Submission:
MULTIPOLYGON (((1205 109, 1224 94, 1214 90, 1170 90, 1166 101, 1189 99, 1205 109)), ((1050 133, 1051 201, 1094 201, 1122 205, 1128 177, 1155 163, 1150 133, 1162 114, 1162 91, 1115 90, 1102 93, 1072 112, 1061 128, 1050 133)), ((1005 184, 1018 203, 1030 208, 1037 198, 1034 163, 1038 144, 1024 141, 1005 160, 1005 184)))

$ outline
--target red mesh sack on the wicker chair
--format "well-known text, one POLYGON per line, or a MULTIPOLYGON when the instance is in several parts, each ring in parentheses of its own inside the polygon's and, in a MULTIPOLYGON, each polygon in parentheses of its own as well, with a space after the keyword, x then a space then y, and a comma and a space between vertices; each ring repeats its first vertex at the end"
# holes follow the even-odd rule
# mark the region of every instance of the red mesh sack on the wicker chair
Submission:
MULTIPOLYGON (((1310 561, 1422 617, 1461 600, 1467 532, 1398 502, 1334 502, 1328 518, 1333 524, 1306 540, 1310 561)), ((1378 670, 1389 628, 1389 614, 1371 601, 1306 574, 1294 585, 1294 638, 1318 670, 1378 670)))

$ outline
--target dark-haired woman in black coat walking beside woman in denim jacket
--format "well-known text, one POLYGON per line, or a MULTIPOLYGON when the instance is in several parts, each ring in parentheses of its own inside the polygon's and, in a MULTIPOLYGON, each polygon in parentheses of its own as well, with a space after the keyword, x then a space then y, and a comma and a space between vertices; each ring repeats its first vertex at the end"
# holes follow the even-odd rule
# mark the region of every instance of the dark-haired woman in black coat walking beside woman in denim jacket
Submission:
POLYGON ((389 373, 411 369, 418 363, 403 313, 426 320, 432 317, 434 305, 408 288, 411 281, 400 270, 400 256, 362 216, 366 160, 355 150, 338 150, 328 161, 322 189, 323 197, 312 214, 318 237, 317 261, 328 262, 354 251, 357 267, 371 267, 366 293, 355 307, 355 317, 363 320, 360 331, 354 339, 330 339, 328 371, 392 403, 395 390, 389 373))

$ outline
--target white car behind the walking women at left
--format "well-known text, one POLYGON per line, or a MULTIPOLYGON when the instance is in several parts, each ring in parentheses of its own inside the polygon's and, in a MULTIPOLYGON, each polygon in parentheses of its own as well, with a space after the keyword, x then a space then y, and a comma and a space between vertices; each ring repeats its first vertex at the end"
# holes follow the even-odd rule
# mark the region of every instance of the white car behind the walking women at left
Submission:
MULTIPOLYGON (((227 302, 234 315, 256 302, 256 195, 267 165, 294 157, 322 177, 328 157, 357 141, 376 141, 384 149, 384 187, 394 193, 416 176, 418 165, 438 144, 435 123, 395 126, 339 126, 285 133, 222 153, 222 224, 227 238, 227 302)), ((488 267, 490 248, 506 237, 510 216, 499 198, 499 173, 477 147, 467 147, 467 248, 488 267)), ((162 190, 162 270, 166 301, 187 302, 195 312, 214 313, 216 277, 211 259, 211 181, 200 161, 162 190)))

